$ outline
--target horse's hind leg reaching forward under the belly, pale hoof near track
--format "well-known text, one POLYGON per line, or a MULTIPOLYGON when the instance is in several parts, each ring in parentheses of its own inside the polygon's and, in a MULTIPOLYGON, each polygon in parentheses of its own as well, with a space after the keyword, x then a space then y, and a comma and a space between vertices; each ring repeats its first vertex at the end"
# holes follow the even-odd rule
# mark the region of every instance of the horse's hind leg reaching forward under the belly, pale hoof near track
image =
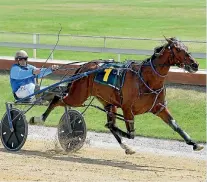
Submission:
POLYGON ((111 133, 114 135, 114 137, 116 138, 116 140, 118 141, 120 146, 125 150, 126 154, 134 154, 135 151, 132 150, 129 146, 127 146, 122 141, 122 138, 116 132, 116 129, 118 129, 118 128, 115 126, 116 116, 113 113, 117 112, 117 108, 115 106, 111 105, 111 104, 110 105, 105 105, 104 108, 108 112, 107 113, 107 124, 105 126, 111 131, 111 133))

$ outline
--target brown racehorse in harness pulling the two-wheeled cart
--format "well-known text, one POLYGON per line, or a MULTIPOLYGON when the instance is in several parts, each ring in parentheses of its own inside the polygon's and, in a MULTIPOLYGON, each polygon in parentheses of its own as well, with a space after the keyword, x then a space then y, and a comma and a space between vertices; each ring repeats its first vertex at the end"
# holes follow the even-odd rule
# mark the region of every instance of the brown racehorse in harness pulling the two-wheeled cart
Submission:
MULTIPOLYGON (((42 115, 45 121, 49 113, 56 106, 80 107, 89 96, 96 97, 107 111, 106 126, 115 136, 126 154, 134 151, 122 142, 121 136, 134 138, 134 116, 151 112, 159 116, 174 131, 176 131, 194 150, 203 149, 202 145, 191 140, 170 114, 166 106, 164 81, 170 66, 178 66, 193 73, 198 70, 198 63, 187 52, 187 47, 175 38, 167 39, 167 43, 155 49, 154 54, 141 64, 131 62, 126 69, 125 81, 121 91, 94 81, 95 74, 74 81, 68 86, 68 94, 63 97, 54 97, 48 109, 42 115), (121 108, 127 132, 119 129, 116 123, 117 108, 121 108)), ((100 68, 99 61, 86 63, 77 72, 83 73, 100 68)))

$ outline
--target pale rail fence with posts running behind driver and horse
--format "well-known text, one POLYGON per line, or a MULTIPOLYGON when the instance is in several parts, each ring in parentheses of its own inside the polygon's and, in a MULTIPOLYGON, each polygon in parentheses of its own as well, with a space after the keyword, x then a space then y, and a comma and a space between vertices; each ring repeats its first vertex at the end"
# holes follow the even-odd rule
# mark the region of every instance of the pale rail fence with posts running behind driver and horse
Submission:
MULTIPOLYGON (((53 50, 57 42, 57 34, 31 34, 0 32, 0 47, 31 48, 33 58, 37 57, 37 49, 53 50)), ((165 42, 164 39, 109 37, 109 36, 79 36, 60 35, 60 41, 55 50, 75 52, 113 53, 131 55, 152 55, 152 47, 165 42), (60 45, 61 44, 61 45, 60 45)), ((182 40, 183 41, 183 40, 182 40)), ((206 41, 185 40, 195 58, 206 58, 206 41)), ((53 55, 51 56, 53 59, 53 55)))

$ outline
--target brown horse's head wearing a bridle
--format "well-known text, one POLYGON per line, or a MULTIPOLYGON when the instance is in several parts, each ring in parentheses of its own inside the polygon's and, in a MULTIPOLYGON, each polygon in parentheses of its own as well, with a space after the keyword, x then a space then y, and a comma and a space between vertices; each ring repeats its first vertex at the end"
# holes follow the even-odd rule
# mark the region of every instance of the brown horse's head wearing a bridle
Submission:
POLYGON ((187 46, 175 38, 165 38, 168 42, 167 48, 171 52, 171 64, 185 69, 190 73, 198 71, 198 62, 188 52, 187 46))

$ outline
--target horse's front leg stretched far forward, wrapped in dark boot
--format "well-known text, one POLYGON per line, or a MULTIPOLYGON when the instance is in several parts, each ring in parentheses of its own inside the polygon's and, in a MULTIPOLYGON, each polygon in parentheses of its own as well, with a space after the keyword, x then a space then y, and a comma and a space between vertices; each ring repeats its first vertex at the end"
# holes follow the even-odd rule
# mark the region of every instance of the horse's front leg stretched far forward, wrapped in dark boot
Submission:
POLYGON ((157 116, 159 116, 163 121, 165 121, 165 123, 167 123, 174 131, 176 131, 188 145, 192 145, 193 150, 199 151, 204 148, 202 145, 195 143, 190 138, 190 136, 178 126, 178 124, 173 119, 167 108, 164 108, 160 113, 157 114, 157 116))

